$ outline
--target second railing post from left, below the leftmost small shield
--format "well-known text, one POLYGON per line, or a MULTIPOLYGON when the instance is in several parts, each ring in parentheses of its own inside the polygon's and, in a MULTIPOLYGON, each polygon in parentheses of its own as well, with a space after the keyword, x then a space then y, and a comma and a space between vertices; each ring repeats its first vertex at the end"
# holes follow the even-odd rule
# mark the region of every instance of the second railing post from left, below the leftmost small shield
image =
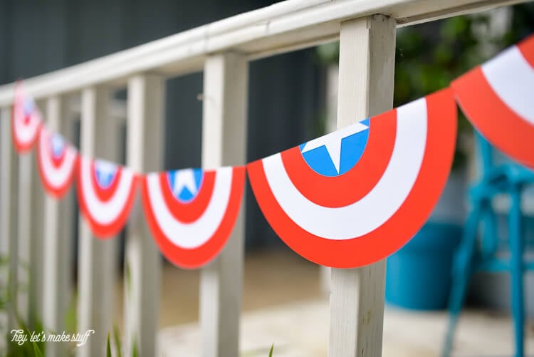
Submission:
MULTIPOLYGON (((41 103, 37 103, 41 104, 41 103)), ((18 270, 16 309, 24 324, 33 328, 42 319, 43 208, 35 151, 19 157, 18 270)))

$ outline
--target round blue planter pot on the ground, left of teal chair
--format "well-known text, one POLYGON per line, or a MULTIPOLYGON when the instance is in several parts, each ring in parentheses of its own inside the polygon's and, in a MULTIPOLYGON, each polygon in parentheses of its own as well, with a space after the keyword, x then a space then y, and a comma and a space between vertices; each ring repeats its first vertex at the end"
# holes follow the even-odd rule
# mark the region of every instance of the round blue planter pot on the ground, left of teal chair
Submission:
POLYGON ((446 308, 461 225, 428 222, 387 259, 386 301, 407 309, 446 308))

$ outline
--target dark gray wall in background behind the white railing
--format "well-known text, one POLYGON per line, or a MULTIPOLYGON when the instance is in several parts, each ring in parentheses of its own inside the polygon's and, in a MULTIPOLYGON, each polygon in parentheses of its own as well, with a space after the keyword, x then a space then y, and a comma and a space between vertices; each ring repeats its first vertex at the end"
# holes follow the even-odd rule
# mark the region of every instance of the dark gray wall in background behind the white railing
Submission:
MULTIPOLYGON (((0 0, 0 83, 137 46, 268 0, 0 0)), ((254 61, 248 97, 248 160, 313 138, 323 107, 323 71, 313 50, 254 61)), ((167 81, 165 168, 200 165, 202 75, 167 81)), ((247 187, 248 248, 281 246, 247 187)))

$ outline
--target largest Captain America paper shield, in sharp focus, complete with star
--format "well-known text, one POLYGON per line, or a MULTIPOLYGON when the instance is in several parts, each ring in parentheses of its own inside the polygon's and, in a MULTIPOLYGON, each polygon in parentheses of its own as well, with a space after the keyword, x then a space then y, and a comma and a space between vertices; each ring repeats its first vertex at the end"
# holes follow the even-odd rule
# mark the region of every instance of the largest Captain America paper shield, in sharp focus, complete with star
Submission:
POLYGON ((450 89, 247 166, 276 234, 328 267, 377 262, 406 244, 436 205, 456 145, 450 89))

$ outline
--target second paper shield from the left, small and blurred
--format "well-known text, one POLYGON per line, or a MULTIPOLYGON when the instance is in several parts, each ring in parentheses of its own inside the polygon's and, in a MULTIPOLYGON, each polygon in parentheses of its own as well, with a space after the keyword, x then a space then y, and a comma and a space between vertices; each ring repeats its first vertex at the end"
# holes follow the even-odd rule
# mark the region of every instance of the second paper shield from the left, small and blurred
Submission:
POLYGON ((37 167, 49 195, 61 198, 73 182, 78 152, 61 135, 41 129, 37 145, 37 167))

